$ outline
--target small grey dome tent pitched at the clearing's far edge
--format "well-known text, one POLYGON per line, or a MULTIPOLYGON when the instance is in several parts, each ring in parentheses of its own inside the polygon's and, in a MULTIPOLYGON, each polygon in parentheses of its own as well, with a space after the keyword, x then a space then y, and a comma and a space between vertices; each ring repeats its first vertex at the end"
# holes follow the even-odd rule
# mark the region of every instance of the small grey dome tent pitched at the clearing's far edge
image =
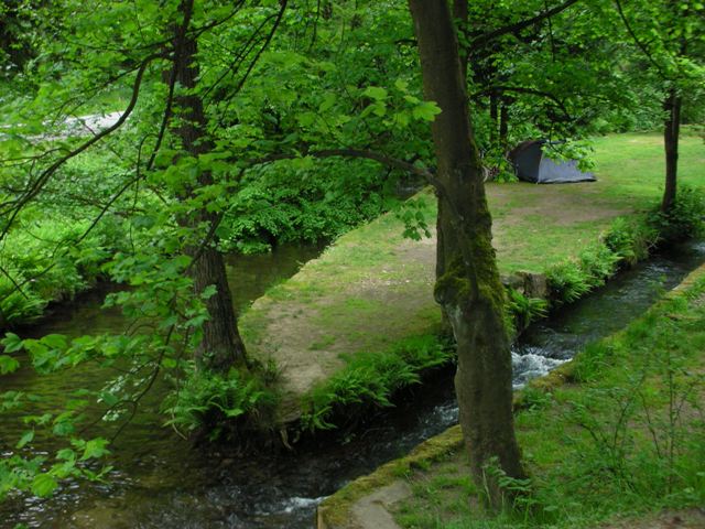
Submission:
POLYGON ((570 182, 594 182, 593 173, 585 173, 577 168, 576 160, 554 162, 546 155, 546 148, 557 142, 547 140, 530 140, 519 143, 509 153, 519 180, 536 184, 558 184, 570 182))

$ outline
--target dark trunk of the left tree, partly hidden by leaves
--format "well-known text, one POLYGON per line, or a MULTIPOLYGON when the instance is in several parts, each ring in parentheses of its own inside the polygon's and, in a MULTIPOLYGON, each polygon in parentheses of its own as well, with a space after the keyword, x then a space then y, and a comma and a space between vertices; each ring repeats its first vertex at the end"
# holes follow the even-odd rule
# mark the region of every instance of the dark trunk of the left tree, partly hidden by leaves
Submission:
MULTIPOLYGON (((197 43, 187 32, 193 0, 183 0, 180 12, 184 22, 175 31, 174 78, 180 89, 187 91, 174 98, 177 122, 172 130, 181 140, 184 151, 191 156, 198 156, 213 150, 214 145, 207 136, 203 101, 193 93, 198 78, 197 43)), ((213 185, 209 171, 200 173, 198 185, 213 185)), ((212 226, 216 222, 216 214, 206 210, 195 212, 191 218, 181 219, 181 223, 192 226, 204 223, 212 226)), ((205 302, 208 321, 203 326, 203 339, 196 350, 196 361, 200 367, 217 371, 227 371, 234 366, 242 368, 246 366, 245 344, 238 332, 223 256, 213 244, 203 248, 192 247, 187 251, 195 259, 192 267, 195 294, 199 295, 210 284, 216 288, 216 293, 205 302)))

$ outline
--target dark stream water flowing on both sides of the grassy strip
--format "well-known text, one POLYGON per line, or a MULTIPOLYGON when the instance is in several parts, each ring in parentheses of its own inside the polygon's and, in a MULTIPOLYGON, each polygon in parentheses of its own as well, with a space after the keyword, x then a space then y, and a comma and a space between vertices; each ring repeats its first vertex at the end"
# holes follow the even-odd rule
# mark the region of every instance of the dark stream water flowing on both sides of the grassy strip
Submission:
MULTIPOLYGON (((261 295, 267 285, 295 273, 301 261, 315 255, 315 249, 303 253, 285 249, 232 260, 232 284, 252 288, 236 304, 242 306, 261 295)), ((705 244, 654 257, 533 325, 512 352, 514 386, 547 373, 587 342, 623 327, 704 260, 705 244)), ((100 293, 83 296, 31 334, 115 330, 120 317, 98 311, 100 299, 100 293)), ((89 369, 61 379, 23 370, 1 381, 3 390, 23 388, 59 399, 73 385, 85 386, 91 376, 89 369)), ((311 528, 316 505, 325 496, 457 421, 449 374, 408 392, 397 408, 380 412, 343 442, 312 442, 286 454, 245 457, 193 449, 147 411, 116 442, 118 471, 109 484, 69 483, 52 499, 15 498, 0 505, 0 528, 19 522, 62 529, 311 528)), ((14 442, 19 432, 0 425, 0 452, 6 450, 2 439, 14 442)))

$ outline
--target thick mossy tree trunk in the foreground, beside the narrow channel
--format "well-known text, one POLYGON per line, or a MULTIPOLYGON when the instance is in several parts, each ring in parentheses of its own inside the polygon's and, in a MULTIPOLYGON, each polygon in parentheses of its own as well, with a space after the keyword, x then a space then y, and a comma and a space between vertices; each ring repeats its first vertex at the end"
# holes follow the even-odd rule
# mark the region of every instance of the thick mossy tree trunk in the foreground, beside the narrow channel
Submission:
POLYGON ((445 263, 435 296, 457 341, 455 388, 473 477, 481 488, 489 488, 490 500, 498 506, 502 492, 486 465, 496 460, 507 475, 524 476, 513 428, 505 290, 491 246, 491 218, 448 4, 409 0, 409 6, 424 96, 442 110, 432 125, 445 263))

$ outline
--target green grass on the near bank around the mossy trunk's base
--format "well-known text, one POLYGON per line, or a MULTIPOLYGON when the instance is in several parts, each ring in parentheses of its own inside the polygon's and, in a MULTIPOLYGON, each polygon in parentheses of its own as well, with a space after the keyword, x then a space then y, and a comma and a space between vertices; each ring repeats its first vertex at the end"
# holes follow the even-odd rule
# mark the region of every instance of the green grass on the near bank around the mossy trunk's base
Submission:
POLYGON ((532 477, 530 485, 508 482, 527 490, 513 507, 488 517, 465 455, 455 452, 409 473, 413 496, 400 505, 398 522, 581 528, 704 505, 703 350, 705 267, 687 289, 581 353, 570 384, 524 392, 517 430, 532 477))

